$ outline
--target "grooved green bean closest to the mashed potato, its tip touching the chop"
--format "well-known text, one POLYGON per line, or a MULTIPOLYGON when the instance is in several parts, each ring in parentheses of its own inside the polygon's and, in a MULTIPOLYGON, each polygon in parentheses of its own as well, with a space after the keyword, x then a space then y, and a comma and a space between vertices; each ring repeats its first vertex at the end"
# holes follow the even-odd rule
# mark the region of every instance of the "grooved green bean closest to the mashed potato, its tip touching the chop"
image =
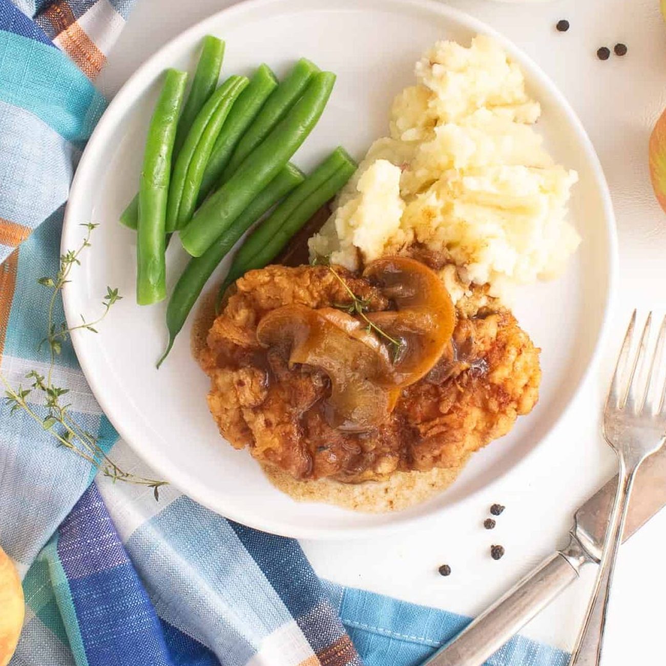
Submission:
POLYGON ((328 157, 246 238, 220 286, 216 310, 232 282, 248 270, 270 264, 289 239, 352 177, 356 163, 343 149, 338 151, 345 155, 341 164, 332 159, 333 155, 328 157))

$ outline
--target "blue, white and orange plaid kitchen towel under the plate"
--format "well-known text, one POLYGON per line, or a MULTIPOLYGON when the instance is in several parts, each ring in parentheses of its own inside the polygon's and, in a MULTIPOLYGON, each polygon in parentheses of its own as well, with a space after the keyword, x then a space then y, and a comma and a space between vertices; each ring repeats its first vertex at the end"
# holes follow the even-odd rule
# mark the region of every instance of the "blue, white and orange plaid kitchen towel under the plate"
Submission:
MULTIPOLYGON (((12 666, 416 665, 467 619, 320 581, 296 541, 227 521, 166 486, 113 483, 57 446, 38 389, 63 206, 105 108, 93 87, 131 0, 0 0, 0 545, 26 619, 12 666), (33 18, 29 18, 33 17, 33 18), (41 280, 45 282, 45 280, 41 280), (27 378, 27 374, 32 374, 27 378)), ((64 320, 59 299, 55 321, 64 320)), ((127 472, 69 342, 52 382, 127 472)), ((56 433, 59 431, 56 429, 56 433)), ((0 609, 1 612, 1 609, 0 609)), ((494 666, 562 666, 515 639, 494 666)))

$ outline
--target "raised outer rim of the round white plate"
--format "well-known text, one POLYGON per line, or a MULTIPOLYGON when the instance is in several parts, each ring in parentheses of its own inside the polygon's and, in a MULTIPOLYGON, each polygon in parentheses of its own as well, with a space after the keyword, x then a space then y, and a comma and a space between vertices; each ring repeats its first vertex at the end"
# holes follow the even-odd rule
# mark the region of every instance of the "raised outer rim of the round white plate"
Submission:
MULTIPOLYGON (((105 134, 107 131, 107 126, 113 128, 115 117, 119 114, 119 112, 122 112, 124 107, 127 106, 126 98, 129 98, 127 101, 131 103, 133 101, 133 93, 135 89, 137 87, 145 87, 143 82, 145 79, 147 79, 146 73, 155 66, 155 63, 159 63, 165 58, 168 58, 169 52, 172 50, 178 50, 182 43, 191 41, 192 35, 204 33, 206 30, 206 25, 208 24, 218 23, 220 20, 224 21, 225 19, 233 19, 236 15, 242 15, 246 12, 252 13, 252 11, 255 11, 256 9, 272 9, 273 11, 280 13, 280 5, 283 5, 284 3, 291 3, 292 1, 293 0, 244 0, 230 7, 226 7, 225 9, 209 15, 201 21, 198 21, 188 29, 176 35, 176 37, 173 37, 167 41, 162 47, 155 51, 151 57, 145 60, 136 69, 136 71, 129 77, 129 79, 125 81, 121 89, 119 89, 119 91, 116 93, 115 97, 113 97, 107 109, 105 109, 105 112, 93 130, 86 148, 81 155, 81 159, 79 161, 79 165, 77 165, 77 169, 75 171, 69 191, 67 205, 65 207, 63 229, 61 233, 61 252, 67 251, 67 246, 70 244, 69 238, 77 227, 77 223, 75 220, 73 220, 72 211, 75 208, 75 205, 72 205, 72 202, 76 204, 77 199, 79 198, 79 182, 81 182, 83 178, 81 174, 83 174, 85 171, 87 163, 94 159, 93 151, 89 149, 91 147, 94 149, 97 137, 103 136, 105 134), (277 8, 276 10, 273 9, 275 7, 277 8)), ((331 2, 331 0, 318 1, 322 5, 326 5, 331 2)), ((615 309, 619 253, 617 224, 615 222, 615 213, 613 211, 610 190, 605 178, 605 174, 603 172, 603 168, 601 166, 601 162, 599 161, 597 152, 595 151, 593 144, 587 135, 587 131, 585 131, 585 127, 583 127, 583 124, 573 110, 573 107, 571 107, 571 104, 563 95, 563 93, 561 93, 557 85, 555 85, 551 77, 549 77, 549 75, 547 75, 547 73, 545 73, 545 71, 543 71, 543 69, 537 65, 537 63, 531 57, 529 57, 527 53, 525 53, 525 51, 515 45, 511 39, 505 37, 505 35, 500 33, 500 31, 494 29, 481 19, 477 19, 476 17, 473 17, 468 13, 461 11, 460 9, 444 5, 443 3, 440 3, 436 0, 373 0, 373 4, 375 6, 380 4, 382 7, 394 6, 402 9, 406 8, 419 11, 430 11, 431 13, 439 15, 440 17, 444 17, 445 19, 448 19, 454 23, 458 23, 459 25, 467 27, 472 31, 490 35, 498 40, 503 49, 505 49, 511 55, 511 57, 513 57, 513 59, 519 62, 523 69, 529 69, 531 75, 539 79, 539 83, 548 89, 549 93, 553 96, 553 99, 555 99, 557 102, 557 106, 561 111, 563 111, 567 117, 567 121, 570 123, 572 129, 577 135, 577 141, 585 153, 587 164, 590 166, 594 176, 594 182, 597 186, 597 191, 599 192, 601 200, 603 201, 605 236, 608 242, 608 252, 606 256, 608 266, 608 286, 605 292, 605 303, 603 304, 603 318, 599 326, 599 331, 596 336, 593 352, 589 358, 587 368, 585 368, 583 374, 581 374, 578 385, 571 393, 567 403, 565 406, 563 406, 557 418, 553 420, 551 426, 546 430, 543 436, 539 438, 539 442, 537 442, 534 446, 531 446, 531 448, 529 448, 529 450, 525 452, 525 454, 523 454, 521 458, 515 462, 515 464, 511 465, 499 476, 496 476, 489 484, 481 486, 476 490, 472 490, 472 492, 470 492, 470 494, 468 494, 466 497, 450 506, 441 507, 437 512, 431 511, 428 513, 423 513, 422 515, 416 515, 402 520, 396 519, 388 523, 378 523, 376 525, 364 525, 360 527, 308 527, 298 525, 298 527, 294 529, 294 525, 291 522, 282 523, 279 519, 263 519, 256 512, 252 511, 250 511, 250 515, 246 515, 246 513, 242 510, 242 507, 240 509, 238 509, 238 507, 233 507, 231 510, 225 508, 224 512, 222 512, 214 499, 209 497, 209 491, 206 489, 206 487, 194 487, 185 490, 178 483, 177 469, 170 466, 166 458, 159 457, 157 454, 154 454, 154 452, 145 450, 145 448, 139 444, 133 444, 131 438, 127 437, 125 434, 125 429, 121 424, 122 421, 118 419, 111 420, 111 417, 109 416, 110 410, 108 409, 109 401, 103 397, 104 391, 103 388, 101 388, 103 379, 99 380, 98 378, 95 378, 94 373, 91 372, 89 361, 87 360, 87 356, 83 348, 84 344, 79 340, 80 332, 74 332, 74 334, 71 336, 71 340, 75 354, 77 356, 77 361, 81 366, 81 370, 83 371, 83 374, 90 386, 93 396, 95 396, 95 400, 97 400, 97 403, 99 404, 103 414, 107 416, 109 422, 111 422, 119 434, 119 438, 122 438, 127 443, 129 448, 131 448, 131 450, 137 454, 139 458, 141 458, 141 460, 148 464, 151 469, 155 470, 159 476, 168 480, 172 486, 180 490, 183 494, 208 507, 208 509, 214 511, 215 513, 218 513, 223 517, 237 521, 254 529, 298 539, 352 539, 368 537, 370 535, 385 535, 388 533, 396 533, 406 529, 416 529, 418 526, 423 525, 426 521, 434 519, 436 515, 441 515, 443 511, 453 509, 454 507, 460 507, 465 503, 469 503, 470 501, 474 500, 474 498, 476 498, 480 493, 488 492, 494 488, 501 480, 503 480, 503 478, 505 478, 505 476, 525 464, 527 460, 530 460, 532 456, 535 455, 536 451, 543 445, 543 442, 551 438, 553 434, 557 432, 559 426, 561 426, 561 424, 569 416, 571 409, 579 400, 581 392, 583 392, 584 388, 589 383, 591 375, 599 365, 599 360, 601 358, 601 354, 609 334, 609 324, 615 309), (167 470, 166 473, 165 468, 167 470)), ((309 6, 308 9, 311 9, 311 6, 309 6)), ((366 9, 366 7, 364 7, 364 9, 366 9)), ((72 322, 74 322, 77 318, 77 312, 73 310, 73 305, 71 299, 69 298, 69 289, 67 288, 63 290, 63 309, 68 325, 71 326, 72 322)), ((400 512, 397 512, 396 515, 400 515, 400 512)))

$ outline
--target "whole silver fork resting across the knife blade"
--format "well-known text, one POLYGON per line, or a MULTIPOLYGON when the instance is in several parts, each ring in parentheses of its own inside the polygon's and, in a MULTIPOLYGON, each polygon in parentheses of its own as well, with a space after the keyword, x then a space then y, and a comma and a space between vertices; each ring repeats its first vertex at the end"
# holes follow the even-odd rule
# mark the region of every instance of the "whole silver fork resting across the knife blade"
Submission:
POLYGON ((643 460, 659 450, 666 440, 666 382, 661 390, 657 388, 657 376, 666 343, 666 317, 659 328, 657 345, 649 364, 647 378, 643 380, 651 322, 650 312, 638 350, 631 363, 629 378, 625 382, 631 339, 636 325, 634 310, 603 410, 603 436, 617 454, 619 483, 592 598, 571 653, 569 666, 597 666, 601 661, 603 632, 615 559, 627 519, 633 482, 643 460))

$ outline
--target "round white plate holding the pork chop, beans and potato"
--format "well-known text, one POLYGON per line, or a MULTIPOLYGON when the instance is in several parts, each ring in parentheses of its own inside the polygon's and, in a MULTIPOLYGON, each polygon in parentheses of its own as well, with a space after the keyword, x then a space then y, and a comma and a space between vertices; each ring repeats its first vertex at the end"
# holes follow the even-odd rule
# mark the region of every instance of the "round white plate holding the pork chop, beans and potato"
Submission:
MULTIPOLYGON (((283 535, 334 538, 413 523, 468 500, 534 450, 553 428, 588 372, 605 325, 615 274, 615 231, 607 186, 594 150, 553 83, 514 45, 488 26, 428 0, 256 0, 236 5, 182 33, 155 54, 107 109, 81 159, 63 229, 63 250, 83 236, 82 222, 100 226, 83 265, 65 289, 71 325, 93 319, 107 285, 124 296, 98 335, 76 332, 81 366, 101 407, 123 439, 165 478, 222 515, 283 535), (278 75, 306 56, 338 75, 326 112, 296 163, 311 168, 344 145, 362 157, 388 130, 390 103, 414 82, 414 63, 438 39, 468 44, 476 33, 497 37, 525 71, 543 105, 539 130, 555 159, 575 168, 571 215, 583 243, 559 280, 525 288, 515 312, 543 350, 541 399, 509 436, 476 454, 458 482, 440 496, 384 515, 298 503, 273 488, 247 451, 232 449, 208 414, 208 378, 190 356, 191 322, 161 370, 166 302, 135 304, 135 234, 118 223, 137 188, 147 125, 166 67, 193 71, 208 33, 226 40, 224 73, 249 73, 261 62, 278 75)), ((178 242, 168 248, 168 282, 186 262, 178 242)), ((211 278, 216 282, 224 268, 211 278)))

